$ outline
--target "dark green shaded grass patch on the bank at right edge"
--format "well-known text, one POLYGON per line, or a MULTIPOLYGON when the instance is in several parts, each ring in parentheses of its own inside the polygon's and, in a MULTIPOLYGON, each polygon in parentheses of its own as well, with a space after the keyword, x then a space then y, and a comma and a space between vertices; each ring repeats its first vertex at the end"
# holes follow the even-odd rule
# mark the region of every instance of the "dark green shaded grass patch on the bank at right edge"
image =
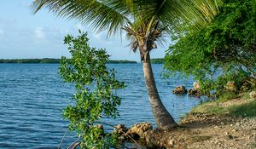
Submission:
POLYGON ((256 117, 256 100, 240 106, 230 106, 229 113, 235 116, 256 117))

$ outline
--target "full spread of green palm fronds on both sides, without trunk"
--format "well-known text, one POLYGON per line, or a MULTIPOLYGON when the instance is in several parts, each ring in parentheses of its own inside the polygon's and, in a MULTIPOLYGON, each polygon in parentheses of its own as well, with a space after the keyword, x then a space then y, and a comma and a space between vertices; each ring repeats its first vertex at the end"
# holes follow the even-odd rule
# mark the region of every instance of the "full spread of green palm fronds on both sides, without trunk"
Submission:
POLYGON ((136 29, 151 20, 165 26, 205 26, 218 12, 220 0, 35 0, 34 12, 43 7, 60 17, 90 24, 96 32, 108 31, 108 36, 125 26, 136 29))

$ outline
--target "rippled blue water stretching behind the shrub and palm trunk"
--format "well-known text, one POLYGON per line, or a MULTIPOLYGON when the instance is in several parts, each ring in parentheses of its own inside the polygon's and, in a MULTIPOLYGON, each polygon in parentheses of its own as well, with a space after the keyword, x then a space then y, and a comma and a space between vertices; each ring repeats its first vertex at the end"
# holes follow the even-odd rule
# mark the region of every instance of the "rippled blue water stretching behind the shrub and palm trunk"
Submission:
MULTIPOLYGON (((63 107, 73 103, 74 88, 63 83, 57 64, 0 64, 0 148, 56 148, 67 130, 63 107)), ((119 92, 123 99, 120 117, 108 123, 154 123, 144 85, 141 64, 110 64, 127 88, 119 92)), ((160 76, 163 65, 153 65, 155 82, 166 109, 178 121, 200 100, 187 95, 172 95, 179 84, 191 88, 193 80, 160 76)), ((68 133, 62 146, 76 138, 68 133)))

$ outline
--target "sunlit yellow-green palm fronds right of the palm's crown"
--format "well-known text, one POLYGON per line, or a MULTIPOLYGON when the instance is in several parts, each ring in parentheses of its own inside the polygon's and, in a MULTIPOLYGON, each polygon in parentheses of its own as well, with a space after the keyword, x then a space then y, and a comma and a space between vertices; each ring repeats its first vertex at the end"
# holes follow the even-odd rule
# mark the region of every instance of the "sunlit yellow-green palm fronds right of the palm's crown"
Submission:
POLYGON ((156 8, 152 12, 147 11, 145 18, 158 19, 163 24, 177 29, 188 25, 198 29, 209 24, 218 14, 222 0, 151 0, 150 2, 152 7, 156 6, 156 8))

